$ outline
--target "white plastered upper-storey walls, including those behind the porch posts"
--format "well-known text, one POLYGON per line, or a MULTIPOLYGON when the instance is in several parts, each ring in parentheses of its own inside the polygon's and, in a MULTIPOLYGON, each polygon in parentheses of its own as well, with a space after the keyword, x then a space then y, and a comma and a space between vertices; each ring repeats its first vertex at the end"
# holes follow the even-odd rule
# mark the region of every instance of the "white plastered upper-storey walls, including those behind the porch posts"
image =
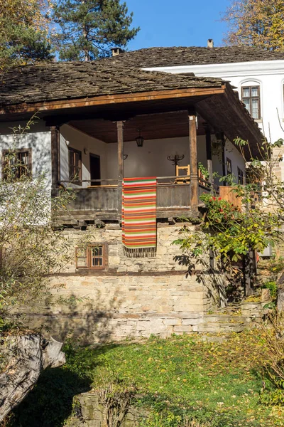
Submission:
MULTIPOLYGON (((24 124, 23 124, 24 125, 24 124)), ((14 140, 11 135, 11 127, 18 126, 18 123, 0 125, 0 150, 15 148, 32 149, 32 172, 33 176, 46 173, 47 186, 51 186, 51 154, 50 154, 50 131, 46 130, 43 123, 38 123, 33 127, 35 132, 29 132, 14 140), (16 143, 15 143, 16 142, 16 143)), ((214 136, 212 136, 214 139, 214 136)), ((117 144, 106 144, 94 137, 90 137, 84 132, 74 129, 71 126, 60 127, 60 179, 68 181, 68 146, 79 149, 82 152, 82 180, 89 179, 89 153, 97 154, 101 157, 102 179, 117 178, 117 144), (84 149, 87 154, 84 153, 84 149)), ((124 142, 124 154, 128 154, 124 161, 124 176, 174 176, 175 166, 167 157, 175 154, 184 155, 180 166, 185 166, 190 162, 190 150, 188 137, 153 139, 146 140, 143 147, 137 147, 135 141, 124 142)), ((231 159, 232 172, 237 176, 237 167, 244 171, 244 159, 231 142, 226 141, 226 156, 231 159)), ((204 136, 197 137, 197 159, 198 162, 207 167, 206 143, 204 136)), ((213 170, 222 175, 222 159, 220 155, 213 155, 213 170)), ((0 164, 1 170, 1 164, 0 164)), ((87 186, 89 183, 84 183, 87 186)))

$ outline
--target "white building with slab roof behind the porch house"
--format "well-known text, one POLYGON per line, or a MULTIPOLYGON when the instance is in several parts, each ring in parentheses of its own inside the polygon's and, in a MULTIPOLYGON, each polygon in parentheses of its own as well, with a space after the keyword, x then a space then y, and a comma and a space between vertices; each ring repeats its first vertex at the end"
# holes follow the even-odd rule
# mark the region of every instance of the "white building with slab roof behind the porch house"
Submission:
POLYGON ((148 48, 121 53, 114 63, 145 70, 194 73, 229 81, 271 142, 284 138, 284 54, 250 47, 148 48))

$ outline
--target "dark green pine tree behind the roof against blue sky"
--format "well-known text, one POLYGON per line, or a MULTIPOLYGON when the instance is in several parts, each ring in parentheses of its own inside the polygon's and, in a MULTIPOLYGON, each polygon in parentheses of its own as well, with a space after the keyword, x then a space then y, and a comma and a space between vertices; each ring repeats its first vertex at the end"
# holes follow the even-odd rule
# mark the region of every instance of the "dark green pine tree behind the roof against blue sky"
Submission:
POLYGON ((124 47, 140 28, 130 28, 133 14, 120 0, 58 0, 53 19, 61 27, 61 60, 94 60, 124 47))

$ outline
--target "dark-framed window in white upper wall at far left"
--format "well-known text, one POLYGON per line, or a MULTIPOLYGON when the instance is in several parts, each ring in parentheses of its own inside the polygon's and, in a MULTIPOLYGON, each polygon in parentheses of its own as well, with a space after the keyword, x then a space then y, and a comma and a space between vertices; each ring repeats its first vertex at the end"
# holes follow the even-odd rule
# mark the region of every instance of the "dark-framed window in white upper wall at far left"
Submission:
POLYGON ((13 151, 4 149, 2 151, 2 166, 3 179, 7 179, 8 174, 13 179, 31 176, 31 148, 15 149, 13 151), (9 172, 6 168, 9 169, 9 172))

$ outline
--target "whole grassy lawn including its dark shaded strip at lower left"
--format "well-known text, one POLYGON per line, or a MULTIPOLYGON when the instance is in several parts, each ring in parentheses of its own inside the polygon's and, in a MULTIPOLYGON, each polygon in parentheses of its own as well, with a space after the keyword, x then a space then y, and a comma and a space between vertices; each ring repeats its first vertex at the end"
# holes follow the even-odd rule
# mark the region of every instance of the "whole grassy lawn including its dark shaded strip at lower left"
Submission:
POLYGON ((65 346, 67 364, 43 372, 18 407, 13 427, 60 427, 72 413, 75 394, 106 387, 119 379, 137 388, 137 406, 150 411, 149 427, 284 426, 284 406, 262 402, 266 347, 260 332, 232 334, 226 341, 204 342, 198 335, 151 338, 94 349, 65 346))

